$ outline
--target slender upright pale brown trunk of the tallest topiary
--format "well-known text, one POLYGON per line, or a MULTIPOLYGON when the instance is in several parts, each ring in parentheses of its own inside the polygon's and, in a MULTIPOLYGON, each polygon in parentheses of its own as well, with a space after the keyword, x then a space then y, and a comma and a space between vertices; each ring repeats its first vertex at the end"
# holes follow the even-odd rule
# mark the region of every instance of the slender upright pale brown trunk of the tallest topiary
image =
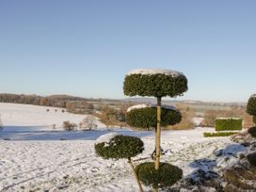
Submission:
MULTIPOLYGON (((157 98, 157 127, 155 132, 155 160, 154 160, 154 168, 159 169, 160 164, 160 138, 161 138, 161 97, 157 98)), ((154 188, 154 191, 157 192, 158 189, 154 188)))

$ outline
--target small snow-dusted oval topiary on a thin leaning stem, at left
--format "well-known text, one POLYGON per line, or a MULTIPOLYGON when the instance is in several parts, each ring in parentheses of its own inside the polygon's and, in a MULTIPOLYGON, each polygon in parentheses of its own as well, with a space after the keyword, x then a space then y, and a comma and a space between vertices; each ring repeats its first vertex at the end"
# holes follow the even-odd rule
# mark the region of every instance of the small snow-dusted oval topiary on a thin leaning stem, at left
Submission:
POLYGON ((128 159, 128 163, 134 171, 138 187, 141 192, 143 191, 131 159, 144 151, 144 143, 140 138, 136 136, 120 136, 113 133, 107 134, 97 139, 94 148, 95 152, 104 159, 128 159))

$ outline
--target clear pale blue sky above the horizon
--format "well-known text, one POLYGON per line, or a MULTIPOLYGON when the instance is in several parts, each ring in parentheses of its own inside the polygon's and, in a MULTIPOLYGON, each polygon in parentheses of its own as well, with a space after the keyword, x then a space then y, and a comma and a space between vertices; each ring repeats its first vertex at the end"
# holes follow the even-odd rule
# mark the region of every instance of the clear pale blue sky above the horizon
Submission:
POLYGON ((0 0, 0 92, 123 98, 126 72, 184 72, 184 97, 256 92, 255 0, 0 0))

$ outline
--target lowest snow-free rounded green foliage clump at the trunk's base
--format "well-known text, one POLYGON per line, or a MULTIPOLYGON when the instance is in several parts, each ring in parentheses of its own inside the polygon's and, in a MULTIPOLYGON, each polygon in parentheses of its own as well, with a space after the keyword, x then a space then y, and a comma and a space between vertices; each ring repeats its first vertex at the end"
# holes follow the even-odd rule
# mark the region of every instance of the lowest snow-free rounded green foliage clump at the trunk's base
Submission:
POLYGON ((183 170, 168 163, 160 163, 159 169, 156 170, 154 163, 147 162, 136 167, 136 174, 139 180, 147 186, 166 188, 182 179, 183 170))

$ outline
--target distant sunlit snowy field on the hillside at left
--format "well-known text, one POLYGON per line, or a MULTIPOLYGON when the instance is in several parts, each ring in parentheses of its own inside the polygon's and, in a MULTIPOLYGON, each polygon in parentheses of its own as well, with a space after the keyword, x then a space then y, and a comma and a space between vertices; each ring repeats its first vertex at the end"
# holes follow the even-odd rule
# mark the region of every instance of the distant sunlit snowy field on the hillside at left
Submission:
MULTIPOLYGON (((3 104, 0 103, 0 115, 4 126, 41 126, 50 127, 56 125, 56 129, 62 127, 65 120, 78 124, 85 115, 77 115, 66 112, 64 108, 38 106, 31 104, 3 104), (49 112, 47 112, 49 109, 49 112), (62 110, 65 112, 63 113, 62 110)), ((97 121, 98 127, 104 124, 97 121)))

